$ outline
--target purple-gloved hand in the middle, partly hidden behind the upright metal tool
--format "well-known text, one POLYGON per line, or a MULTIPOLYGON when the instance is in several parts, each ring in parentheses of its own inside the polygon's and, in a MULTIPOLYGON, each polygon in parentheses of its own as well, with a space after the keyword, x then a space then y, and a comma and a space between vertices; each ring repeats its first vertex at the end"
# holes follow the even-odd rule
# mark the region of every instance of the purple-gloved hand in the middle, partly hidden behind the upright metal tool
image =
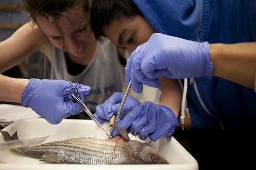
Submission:
MULTIPOLYGON (((112 96, 107 98, 104 103, 96 106, 96 112, 95 114, 93 114, 93 116, 97 118, 99 123, 103 123, 104 119, 110 121, 113 114, 117 114, 119 105, 121 104, 123 97, 124 94, 121 92, 113 93, 112 96)), ((129 111, 131 111, 139 104, 140 102, 136 98, 128 95, 119 118, 123 118, 129 111)))

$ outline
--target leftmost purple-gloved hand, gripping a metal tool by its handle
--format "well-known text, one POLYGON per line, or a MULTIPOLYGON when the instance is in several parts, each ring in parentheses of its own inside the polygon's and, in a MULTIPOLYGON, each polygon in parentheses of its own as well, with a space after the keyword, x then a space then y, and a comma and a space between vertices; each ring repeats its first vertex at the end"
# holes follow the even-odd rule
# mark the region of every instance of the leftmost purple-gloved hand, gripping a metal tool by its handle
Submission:
MULTIPOLYGON (((84 101, 84 95, 90 93, 91 88, 74 83, 78 96, 84 101)), ((58 124, 62 119, 79 114, 82 107, 71 96, 76 90, 65 80, 30 79, 22 94, 21 104, 30 107, 38 115, 51 124, 58 124)))

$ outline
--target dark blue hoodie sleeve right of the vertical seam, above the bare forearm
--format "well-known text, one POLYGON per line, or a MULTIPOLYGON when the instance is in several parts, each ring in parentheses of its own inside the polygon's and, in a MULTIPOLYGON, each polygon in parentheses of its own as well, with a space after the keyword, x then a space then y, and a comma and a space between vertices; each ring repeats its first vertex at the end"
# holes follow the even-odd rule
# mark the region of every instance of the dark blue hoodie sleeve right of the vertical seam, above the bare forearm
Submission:
POLYGON ((206 40, 233 44, 256 40, 256 1, 215 1, 206 40))

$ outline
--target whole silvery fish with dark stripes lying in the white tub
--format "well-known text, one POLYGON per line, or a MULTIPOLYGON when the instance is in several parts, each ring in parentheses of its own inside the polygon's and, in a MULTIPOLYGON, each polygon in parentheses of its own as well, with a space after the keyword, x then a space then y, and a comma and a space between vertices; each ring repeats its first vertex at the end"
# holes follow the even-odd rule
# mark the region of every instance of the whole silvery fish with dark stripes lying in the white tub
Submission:
MULTIPOLYGON (((5 141, 18 139, 0 131, 5 141)), ((55 164, 169 164, 154 148, 137 140, 117 136, 112 139, 78 137, 35 146, 14 148, 28 157, 55 164)))

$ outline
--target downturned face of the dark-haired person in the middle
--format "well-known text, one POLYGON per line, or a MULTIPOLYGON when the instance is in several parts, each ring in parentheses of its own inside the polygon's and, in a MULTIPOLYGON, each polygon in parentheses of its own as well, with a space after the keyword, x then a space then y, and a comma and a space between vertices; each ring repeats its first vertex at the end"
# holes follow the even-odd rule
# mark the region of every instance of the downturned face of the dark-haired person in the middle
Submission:
POLYGON ((117 47, 125 47, 131 54, 140 44, 149 40, 156 30, 141 16, 126 17, 122 20, 113 20, 104 34, 117 47))

